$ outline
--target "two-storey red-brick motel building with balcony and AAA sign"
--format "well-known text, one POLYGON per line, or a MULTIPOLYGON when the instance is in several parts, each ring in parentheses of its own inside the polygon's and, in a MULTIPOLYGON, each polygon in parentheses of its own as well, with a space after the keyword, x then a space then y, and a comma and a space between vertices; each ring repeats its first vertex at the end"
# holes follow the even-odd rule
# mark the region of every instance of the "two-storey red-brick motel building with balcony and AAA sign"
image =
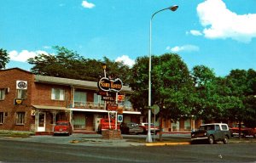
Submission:
MULTIPOLYGON (((98 92, 97 82, 38 76, 20 68, 0 70, 0 130, 50 133, 56 121, 70 121, 73 132, 96 132, 101 118, 108 117, 108 102, 98 92)), ((123 121, 146 122, 147 115, 132 107, 131 93, 123 86, 117 96, 123 121)), ((162 121, 164 132, 191 131, 197 123, 162 121)))

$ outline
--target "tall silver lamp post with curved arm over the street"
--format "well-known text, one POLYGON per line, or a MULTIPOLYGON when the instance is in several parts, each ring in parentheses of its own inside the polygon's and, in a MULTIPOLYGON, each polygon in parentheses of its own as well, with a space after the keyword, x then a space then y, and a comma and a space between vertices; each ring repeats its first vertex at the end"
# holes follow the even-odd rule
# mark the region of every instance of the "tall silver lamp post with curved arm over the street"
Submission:
POLYGON ((155 12, 152 14, 151 19, 150 19, 150 29, 149 29, 149 66, 148 66, 148 135, 146 142, 151 143, 152 142, 152 137, 151 137, 151 46, 152 46, 152 20, 154 18, 155 14, 160 13, 161 11, 164 11, 166 9, 170 9, 171 11, 176 11, 178 8, 177 5, 173 5, 169 8, 164 8, 160 9, 159 11, 155 12))

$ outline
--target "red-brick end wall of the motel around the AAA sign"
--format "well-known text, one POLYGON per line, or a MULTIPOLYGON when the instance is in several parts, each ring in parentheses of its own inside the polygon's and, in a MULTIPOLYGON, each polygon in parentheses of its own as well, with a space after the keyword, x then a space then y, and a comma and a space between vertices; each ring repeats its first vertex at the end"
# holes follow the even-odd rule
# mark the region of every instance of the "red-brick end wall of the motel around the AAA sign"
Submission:
POLYGON ((31 116, 31 90, 33 84, 32 73, 26 70, 9 69, 0 70, 0 88, 9 88, 9 93, 5 94, 4 100, 0 100, 0 112, 4 112, 4 123, 0 125, 2 130, 23 130, 30 131, 31 124, 34 120, 31 116), (27 82, 26 99, 23 100, 22 105, 15 105, 14 101, 17 96, 16 81, 27 82), (15 124, 15 113, 25 112, 26 121, 24 125, 15 124))

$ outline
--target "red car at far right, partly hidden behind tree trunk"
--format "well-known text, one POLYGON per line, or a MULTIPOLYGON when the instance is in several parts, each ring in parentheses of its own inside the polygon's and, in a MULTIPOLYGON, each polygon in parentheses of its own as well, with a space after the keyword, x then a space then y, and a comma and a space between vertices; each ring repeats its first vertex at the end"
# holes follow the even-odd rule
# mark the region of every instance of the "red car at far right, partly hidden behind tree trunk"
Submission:
MULTIPOLYGON (((245 126, 243 123, 241 123, 241 136, 253 136, 253 138, 256 138, 256 127, 250 128, 245 126)), ((239 123, 237 123, 234 126, 230 126, 230 132, 232 137, 239 136, 239 123)))

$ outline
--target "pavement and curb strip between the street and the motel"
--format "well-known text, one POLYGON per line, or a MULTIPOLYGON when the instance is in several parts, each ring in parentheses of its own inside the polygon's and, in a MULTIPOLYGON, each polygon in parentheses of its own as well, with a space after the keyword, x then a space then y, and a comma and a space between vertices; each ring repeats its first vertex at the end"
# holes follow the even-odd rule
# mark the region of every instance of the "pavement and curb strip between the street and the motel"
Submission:
MULTIPOLYGON (((157 136, 156 136, 157 137, 157 136)), ((29 138, 12 138, 12 137, 0 137, 1 139, 9 139, 16 141, 35 142, 35 143, 57 143, 57 144, 70 144, 70 145, 84 145, 84 146, 99 146, 99 147, 129 147, 129 146, 160 146, 160 145, 187 145, 188 141, 178 142, 157 142, 153 136, 153 143, 146 143, 146 136, 123 136, 123 139, 103 139, 100 134, 81 134, 73 133, 70 136, 31 136, 29 138)))

